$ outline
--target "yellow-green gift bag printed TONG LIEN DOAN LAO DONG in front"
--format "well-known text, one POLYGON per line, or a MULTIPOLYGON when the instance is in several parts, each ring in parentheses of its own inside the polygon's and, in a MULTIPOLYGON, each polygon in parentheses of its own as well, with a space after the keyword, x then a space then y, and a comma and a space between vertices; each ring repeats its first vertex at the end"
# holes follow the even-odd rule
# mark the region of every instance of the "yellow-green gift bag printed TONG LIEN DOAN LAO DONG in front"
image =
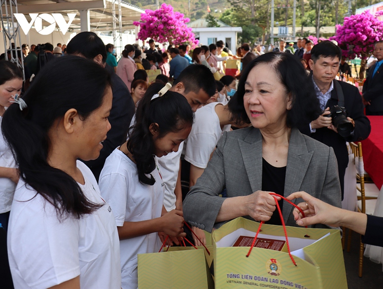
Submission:
MULTIPOLYGON (((232 247, 239 236, 255 236, 260 223, 236 218, 212 233, 215 288, 347 288, 339 230, 285 227, 289 253, 232 247)), ((262 224, 258 238, 284 240, 283 226, 262 224)))

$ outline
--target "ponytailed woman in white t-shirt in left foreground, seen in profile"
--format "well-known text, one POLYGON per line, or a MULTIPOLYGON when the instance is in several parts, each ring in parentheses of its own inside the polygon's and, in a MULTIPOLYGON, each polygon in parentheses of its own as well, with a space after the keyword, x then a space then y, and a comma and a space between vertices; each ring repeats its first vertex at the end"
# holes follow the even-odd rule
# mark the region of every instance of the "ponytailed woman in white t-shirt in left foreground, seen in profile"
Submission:
POLYGON ((92 172, 110 129, 110 75, 77 56, 46 64, 1 129, 20 171, 8 228, 15 288, 121 288, 111 209, 92 172))

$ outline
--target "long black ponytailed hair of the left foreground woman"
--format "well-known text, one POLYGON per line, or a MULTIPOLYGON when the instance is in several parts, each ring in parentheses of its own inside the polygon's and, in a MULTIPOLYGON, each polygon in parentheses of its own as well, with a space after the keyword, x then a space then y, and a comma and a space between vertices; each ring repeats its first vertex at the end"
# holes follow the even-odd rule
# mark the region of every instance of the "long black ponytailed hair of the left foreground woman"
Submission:
POLYGON ((70 108, 86 119, 102 105, 109 86, 108 72, 94 61, 60 57, 44 66, 25 93, 28 108, 20 110, 12 104, 4 113, 1 129, 20 178, 51 203, 61 217, 79 218, 100 205, 89 201, 70 175, 49 165, 48 131, 70 108))

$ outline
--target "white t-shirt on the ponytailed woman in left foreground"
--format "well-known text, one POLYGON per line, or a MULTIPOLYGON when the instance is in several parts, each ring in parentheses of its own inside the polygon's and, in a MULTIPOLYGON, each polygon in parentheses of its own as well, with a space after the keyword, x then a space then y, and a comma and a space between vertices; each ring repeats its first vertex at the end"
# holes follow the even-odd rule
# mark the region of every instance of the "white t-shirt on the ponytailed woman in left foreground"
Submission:
POLYGON ((55 208, 19 181, 9 218, 8 256, 16 289, 49 288, 80 275, 81 288, 120 289, 120 250, 110 206, 88 167, 77 161, 88 200, 100 209, 61 221, 55 208))

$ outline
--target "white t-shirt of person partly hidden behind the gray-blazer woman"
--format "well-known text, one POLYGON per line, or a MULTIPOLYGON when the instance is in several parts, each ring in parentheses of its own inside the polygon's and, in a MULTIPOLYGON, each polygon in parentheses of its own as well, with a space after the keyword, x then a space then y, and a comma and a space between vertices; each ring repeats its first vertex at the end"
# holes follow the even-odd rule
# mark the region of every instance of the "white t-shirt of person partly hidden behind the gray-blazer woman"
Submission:
POLYGON ((197 109, 187 138, 185 160, 197 168, 205 169, 208 166, 210 155, 222 136, 216 105, 221 104, 211 103, 197 109))

